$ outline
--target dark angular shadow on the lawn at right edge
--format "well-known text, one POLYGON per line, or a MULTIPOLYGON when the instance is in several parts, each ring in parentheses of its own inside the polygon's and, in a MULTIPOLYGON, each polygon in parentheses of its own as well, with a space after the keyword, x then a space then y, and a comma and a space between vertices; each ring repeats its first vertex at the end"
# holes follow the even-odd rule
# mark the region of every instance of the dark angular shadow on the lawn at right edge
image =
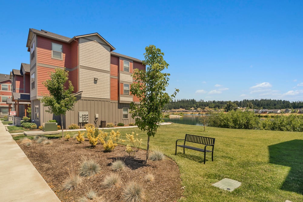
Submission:
POLYGON ((290 167, 281 190, 303 194, 303 140, 268 146, 269 163, 290 167))

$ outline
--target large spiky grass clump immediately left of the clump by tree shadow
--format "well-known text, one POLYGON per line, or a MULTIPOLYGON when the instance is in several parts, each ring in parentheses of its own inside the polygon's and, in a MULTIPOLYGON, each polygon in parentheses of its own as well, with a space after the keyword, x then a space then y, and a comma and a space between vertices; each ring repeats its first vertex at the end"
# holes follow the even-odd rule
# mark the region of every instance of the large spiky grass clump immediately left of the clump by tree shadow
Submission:
POLYGON ((80 164, 79 175, 81 177, 91 177, 100 172, 100 165, 93 159, 86 159, 82 157, 82 163, 80 164))

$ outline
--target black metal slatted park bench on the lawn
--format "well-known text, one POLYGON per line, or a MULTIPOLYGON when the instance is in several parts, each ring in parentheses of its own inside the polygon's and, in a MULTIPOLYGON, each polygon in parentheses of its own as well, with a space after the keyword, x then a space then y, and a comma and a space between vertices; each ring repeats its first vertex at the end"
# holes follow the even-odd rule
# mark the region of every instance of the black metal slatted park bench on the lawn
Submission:
POLYGON ((211 152, 211 161, 214 161, 215 138, 185 134, 185 139, 179 139, 179 140, 176 141, 175 155, 177 155, 177 147, 183 147, 183 154, 185 154, 185 148, 192 149, 192 150, 195 150, 195 151, 204 152, 204 164, 205 164, 206 152, 211 152), (177 142, 179 140, 184 140, 184 144, 177 144, 177 142), (205 145, 205 147, 204 147, 204 149, 201 149, 201 148, 198 148, 198 147, 188 146, 188 145, 185 145, 186 142, 193 142, 193 143, 197 143, 197 144, 203 144, 203 145, 205 145), (207 150, 206 149, 207 146, 211 146, 212 150, 207 150))

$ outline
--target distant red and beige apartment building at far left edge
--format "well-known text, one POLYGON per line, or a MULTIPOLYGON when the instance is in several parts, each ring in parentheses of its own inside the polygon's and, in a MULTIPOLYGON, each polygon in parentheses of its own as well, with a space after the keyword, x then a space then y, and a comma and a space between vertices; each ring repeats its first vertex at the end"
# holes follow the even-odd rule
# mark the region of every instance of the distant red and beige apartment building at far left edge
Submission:
POLYGON ((8 115, 8 104, 6 101, 11 98, 12 81, 7 74, 0 74, 0 117, 8 115))

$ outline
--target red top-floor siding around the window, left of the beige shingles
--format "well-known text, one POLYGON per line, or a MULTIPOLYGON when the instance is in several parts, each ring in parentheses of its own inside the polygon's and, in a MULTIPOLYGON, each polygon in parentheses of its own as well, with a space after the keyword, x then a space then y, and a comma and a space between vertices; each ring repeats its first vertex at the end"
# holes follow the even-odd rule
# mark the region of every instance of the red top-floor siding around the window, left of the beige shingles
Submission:
POLYGON ((56 41, 56 40, 52 40, 49 38, 38 36, 37 37, 37 62, 46 64, 46 65, 72 68, 71 45, 61 42, 61 41, 56 41), (52 59, 52 42, 62 44, 63 60, 52 59))

